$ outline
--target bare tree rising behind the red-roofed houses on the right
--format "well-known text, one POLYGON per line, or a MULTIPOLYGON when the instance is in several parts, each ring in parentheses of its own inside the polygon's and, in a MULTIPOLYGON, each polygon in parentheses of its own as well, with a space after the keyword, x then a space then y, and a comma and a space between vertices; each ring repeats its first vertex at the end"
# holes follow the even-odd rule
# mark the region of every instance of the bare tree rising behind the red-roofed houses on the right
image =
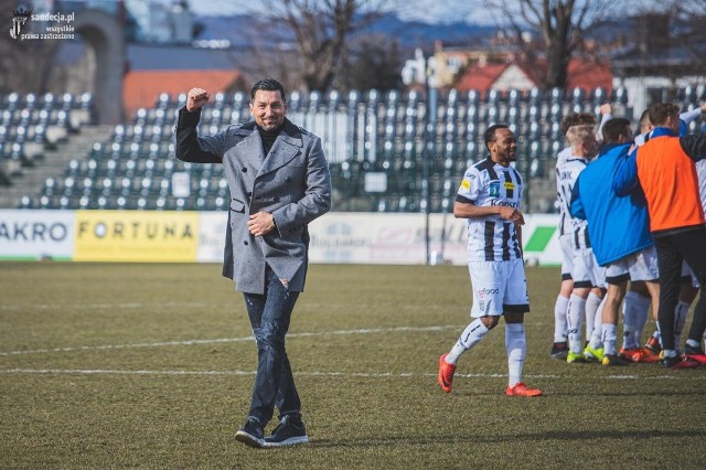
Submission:
POLYGON ((608 0, 483 0, 483 4, 544 88, 566 86, 569 60, 611 7, 608 0), (538 41, 531 39, 533 33, 538 41))

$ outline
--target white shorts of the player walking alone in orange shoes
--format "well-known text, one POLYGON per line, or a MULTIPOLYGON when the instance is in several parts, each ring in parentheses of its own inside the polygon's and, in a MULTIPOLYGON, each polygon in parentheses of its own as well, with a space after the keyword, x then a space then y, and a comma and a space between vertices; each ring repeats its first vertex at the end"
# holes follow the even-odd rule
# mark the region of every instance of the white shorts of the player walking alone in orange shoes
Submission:
POLYGON ((510 261, 469 261, 473 290, 471 317, 501 316, 530 311, 527 277, 522 259, 510 261))

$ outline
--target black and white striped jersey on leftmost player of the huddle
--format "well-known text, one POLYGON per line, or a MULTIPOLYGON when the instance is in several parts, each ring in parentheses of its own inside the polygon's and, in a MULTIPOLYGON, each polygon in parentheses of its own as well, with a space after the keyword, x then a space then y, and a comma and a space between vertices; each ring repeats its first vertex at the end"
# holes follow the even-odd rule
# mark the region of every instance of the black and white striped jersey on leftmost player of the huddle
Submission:
POLYGON ((588 223, 580 218, 571 217, 571 191, 584 171, 588 160, 581 157, 571 157, 559 162, 556 168, 556 196, 559 203, 559 232, 561 235, 570 234, 574 249, 590 248, 588 238, 588 223))

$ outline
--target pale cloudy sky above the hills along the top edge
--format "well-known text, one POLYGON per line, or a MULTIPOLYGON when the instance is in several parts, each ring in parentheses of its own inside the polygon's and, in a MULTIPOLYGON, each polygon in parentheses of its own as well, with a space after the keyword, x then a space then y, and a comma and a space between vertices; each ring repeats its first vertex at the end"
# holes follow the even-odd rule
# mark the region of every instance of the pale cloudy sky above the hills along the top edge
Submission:
MULTIPOLYGON (((234 14, 257 12, 261 8, 259 0, 189 0, 191 9, 199 14, 234 14)), ((474 7, 474 0, 391 0, 395 10, 405 20, 427 22, 468 21, 490 23, 484 9, 474 7)))

